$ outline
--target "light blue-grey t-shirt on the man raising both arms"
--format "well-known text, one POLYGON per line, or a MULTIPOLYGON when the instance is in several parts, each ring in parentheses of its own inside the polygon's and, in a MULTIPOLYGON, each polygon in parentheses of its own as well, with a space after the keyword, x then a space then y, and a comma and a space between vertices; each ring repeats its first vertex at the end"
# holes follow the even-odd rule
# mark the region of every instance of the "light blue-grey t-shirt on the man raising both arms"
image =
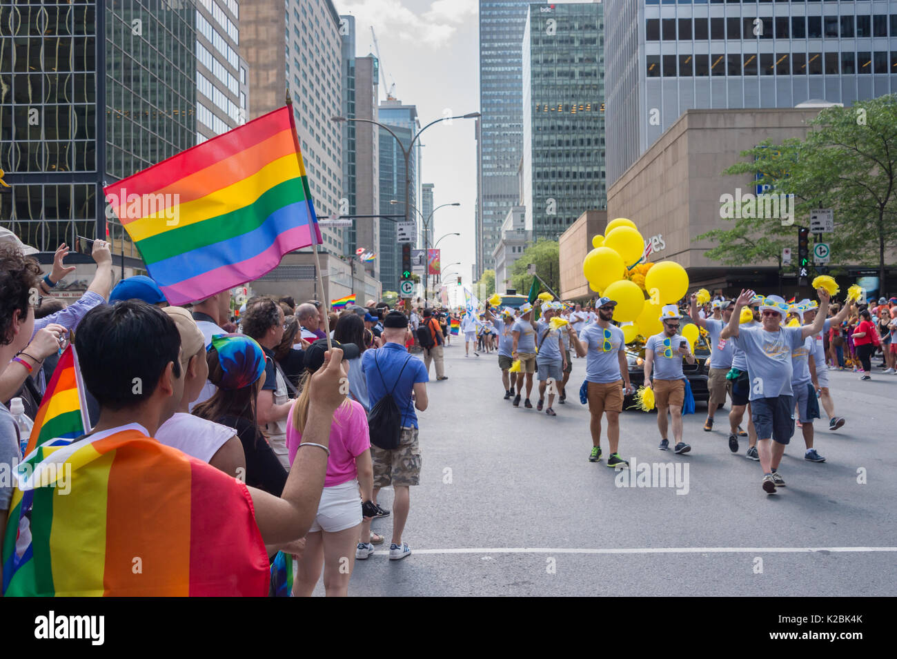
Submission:
POLYGON ((750 400, 794 395, 791 352, 804 343, 801 332, 801 327, 779 327, 776 332, 767 332, 762 325, 741 326, 734 338, 736 346, 745 351, 750 400))

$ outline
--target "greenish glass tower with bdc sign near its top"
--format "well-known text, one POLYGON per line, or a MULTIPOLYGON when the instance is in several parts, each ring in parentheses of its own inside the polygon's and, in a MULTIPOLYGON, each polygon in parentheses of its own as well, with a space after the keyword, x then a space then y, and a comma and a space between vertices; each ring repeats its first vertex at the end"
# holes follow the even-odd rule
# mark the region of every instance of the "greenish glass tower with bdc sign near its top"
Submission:
POLYGON ((603 5, 532 6, 523 37, 523 203, 533 240, 607 207, 603 5))

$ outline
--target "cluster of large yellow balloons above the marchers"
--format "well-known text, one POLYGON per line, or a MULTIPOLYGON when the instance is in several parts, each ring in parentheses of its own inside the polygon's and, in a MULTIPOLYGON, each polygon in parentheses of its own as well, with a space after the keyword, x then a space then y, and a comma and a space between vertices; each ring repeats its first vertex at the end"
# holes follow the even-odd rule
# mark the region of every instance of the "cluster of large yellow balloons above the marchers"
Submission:
POLYGON ((635 222, 623 217, 609 221, 605 235, 592 238, 592 247, 582 262, 582 273, 591 290, 617 303, 614 320, 633 324, 632 329, 623 327, 626 343, 639 335, 659 334, 661 308, 688 292, 684 267, 674 261, 645 262, 644 238, 635 222))

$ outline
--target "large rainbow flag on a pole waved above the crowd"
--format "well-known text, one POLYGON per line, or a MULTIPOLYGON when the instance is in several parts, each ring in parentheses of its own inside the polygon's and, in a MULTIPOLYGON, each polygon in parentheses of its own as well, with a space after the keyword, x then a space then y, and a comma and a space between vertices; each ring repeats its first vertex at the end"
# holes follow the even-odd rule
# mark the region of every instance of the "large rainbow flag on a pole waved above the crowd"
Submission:
POLYGON ((173 305, 255 280, 322 242, 292 105, 104 191, 173 305))

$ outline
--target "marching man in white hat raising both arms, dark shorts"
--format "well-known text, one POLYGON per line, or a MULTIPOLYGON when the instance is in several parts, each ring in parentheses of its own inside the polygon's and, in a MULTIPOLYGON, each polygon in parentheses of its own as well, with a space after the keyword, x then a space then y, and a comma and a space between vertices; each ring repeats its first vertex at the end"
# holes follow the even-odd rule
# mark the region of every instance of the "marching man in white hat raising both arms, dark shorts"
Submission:
POLYGON ((757 432, 757 447, 763 470, 762 488, 773 494, 785 485, 778 473, 785 447, 794 434, 794 395, 791 388, 791 351, 797 350, 806 337, 819 334, 828 313, 829 293, 818 289, 822 301, 813 325, 783 327, 788 302, 779 296, 763 299, 760 305, 762 324, 759 327, 738 325, 741 309, 753 299, 753 290, 742 290, 736 300, 729 324, 720 337, 734 337, 736 347, 745 351, 750 381, 750 401, 753 425, 757 432))

